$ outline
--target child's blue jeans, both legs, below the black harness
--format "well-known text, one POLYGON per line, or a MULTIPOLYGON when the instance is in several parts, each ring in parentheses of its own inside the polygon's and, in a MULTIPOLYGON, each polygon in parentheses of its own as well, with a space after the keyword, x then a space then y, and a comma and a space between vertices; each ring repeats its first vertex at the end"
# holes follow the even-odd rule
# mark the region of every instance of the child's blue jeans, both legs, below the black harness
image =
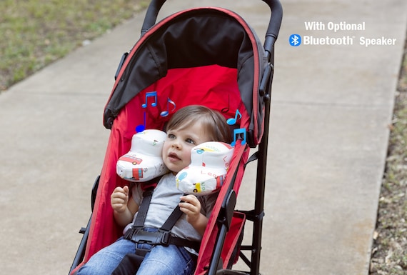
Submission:
MULTIPOLYGON (((139 249, 151 249, 141 263, 137 274, 143 275, 189 275, 194 273, 195 263, 184 247, 137 244, 139 249)), ((129 253, 136 252, 134 242, 120 238, 91 256, 77 275, 110 275, 120 261, 129 253)))

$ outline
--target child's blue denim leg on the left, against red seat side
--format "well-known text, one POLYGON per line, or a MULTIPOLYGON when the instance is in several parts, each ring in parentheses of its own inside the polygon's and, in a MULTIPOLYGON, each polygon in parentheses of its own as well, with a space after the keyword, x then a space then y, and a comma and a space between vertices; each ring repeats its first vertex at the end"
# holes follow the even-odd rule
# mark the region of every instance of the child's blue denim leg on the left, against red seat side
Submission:
POLYGON ((91 256, 91 259, 78 270, 77 275, 110 275, 126 254, 135 251, 136 246, 132 241, 118 239, 91 256))

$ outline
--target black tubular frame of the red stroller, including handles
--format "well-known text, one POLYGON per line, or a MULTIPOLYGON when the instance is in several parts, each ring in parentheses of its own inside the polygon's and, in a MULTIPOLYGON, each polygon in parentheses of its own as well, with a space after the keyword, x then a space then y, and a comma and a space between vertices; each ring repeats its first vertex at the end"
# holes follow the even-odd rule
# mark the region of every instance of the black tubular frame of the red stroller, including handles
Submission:
MULTIPOLYGON (((216 237, 216 243, 214 245, 213 254, 211 256, 211 261, 206 274, 251 274, 256 275, 260 274, 260 257, 261 257, 261 237, 263 229, 263 216, 264 216, 264 192, 266 185, 266 164, 267 164, 267 149, 268 149, 268 130, 269 130, 269 121, 270 121, 270 107, 271 107, 271 84, 273 81, 273 69, 274 69, 274 44, 278 37, 278 31, 281 26, 282 20, 282 7, 281 3, 278 0, 262 0, 268 4, 271 9, 271 18, 268 24, 268 29, 266 32, 266 39, 263 44, 263 48, 266 52, 266 59, 268 64, 266 69, 263 71, 263 76, 261 76, 261 82, 259 86, 259 94, 262 97, 264 104, 264 115, 263 115, 263 133, 262 138, 258 144, 252 140, 248 140, 250 147, 258 146, 258 150, 254 153, 248 161, 243 164, 244 167, 254 160, 257 160, 257 171, 256 171, 256 190, 255 190, 255 202, 254 207, 248 211, 238 211, 241 214, 246 216, 246 220, 253 222, 253 236, 251 239, 251 244, 242 245, 239 249, 235 249, 233 253, 238 253, 238 256, 243 260, 243 262, 248 266, 250 271, 233 271, 231 269, 218 269, 221 254, 223 250, 223 244, 226 239, 226 234, 231 228, 231 222, 233 217, 234 208, 236 206, 236 192, 233 190, 233 184, 228 185, 228 190, 226 191, 226 196, 224 196, 223 203, 221 205, 221 210, 219 211, 218 217, 216 219, 216 225, 218 227, 218 234, 216 237), (251 259, 243 254, 243 251, 251 251, 251 259)), ((144 24, 141 28, 141 37, 144 36, 146 31, 151 29, 154 24, 156 24, 156 19, 159 14, 161 6, 164 5, 166 0, 152 0, 149 8, 146 12, 146 17, 144 19, 144 24)), ((126 57, 128 54, 124 54, 120 61, 119 67, 116 71, 115 79, 119 76, 122 66, 126 62, 126 57)), ((259 99, 261 100, 261 99, 259 99)), ((110 129, 113 124, 114 116, 110 113, 109 110, 105 111, 104 114, 104 125, 106 128, 110 129)), ((234 182, 237 176, 237 169, 233 173, 233 179, 231 182, 234 182)), ((92 188, 91 194, 91 209, 94 210, 94 205, 96 201, 96 192, 99 187, 100 176, 96 178, 94 186, 92 188)), ((89 231, 91 228, 91 219, 86 228, 82 228, 79 232, 84 234, 81 239, 78 251, 71 266, 69 274, 71 274, 81 261, 84 259, 86 242, 89 238, 89 231)), ((242 237, 242 236, 241 236, 242 237)), ((241 241, 240 238, 239 241, 241 241)), ((232 256, 233 257, 233 256, 232 256)), ((231 268, 231 264, 230 264, 231 268)))

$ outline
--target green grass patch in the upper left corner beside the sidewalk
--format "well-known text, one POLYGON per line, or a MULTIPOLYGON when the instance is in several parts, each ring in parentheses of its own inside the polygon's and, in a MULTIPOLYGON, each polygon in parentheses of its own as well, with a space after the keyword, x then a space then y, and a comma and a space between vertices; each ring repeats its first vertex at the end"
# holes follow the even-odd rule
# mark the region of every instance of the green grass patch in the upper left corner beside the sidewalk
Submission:
POLYGON ((1 0, 0 90, 112 29, 144 0, 1 0))

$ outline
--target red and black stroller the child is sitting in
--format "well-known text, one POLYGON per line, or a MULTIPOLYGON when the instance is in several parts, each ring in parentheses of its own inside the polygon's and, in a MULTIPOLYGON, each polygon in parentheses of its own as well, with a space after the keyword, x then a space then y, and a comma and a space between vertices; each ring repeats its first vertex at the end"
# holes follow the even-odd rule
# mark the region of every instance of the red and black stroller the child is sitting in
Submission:
POLYGON ((84 236, 69 274, 122 236, 114 222, 110 196, 116 186, 128 184, 116 174, 116 161, 129 151, 132 136, 144 129, 164 129, 176 110, 191 104, 220 111, 233 124, 234 146, 226 180, 201 241, 195 274, 259 274, 273 47, 282 19, 278 0, 263 1, 271 9, 264 46, 233 11, 194 8, 156 23, 165 0, 151 1, 141 38, 122 56, 104 110, 104 126, 111 129, 111 135, 92 189, 92 214, 80 231, 84 236), (256 147, 256 153, 249 156, 256 147), (254 160, 254 208, 235 211, 245 167, 254 160), (246 221, 253 222, 250 245, 241 244, 246 221), (251 255, 246 256, 246 251, 251 255), (238 259, 250 270, 233 271, 238 259))

